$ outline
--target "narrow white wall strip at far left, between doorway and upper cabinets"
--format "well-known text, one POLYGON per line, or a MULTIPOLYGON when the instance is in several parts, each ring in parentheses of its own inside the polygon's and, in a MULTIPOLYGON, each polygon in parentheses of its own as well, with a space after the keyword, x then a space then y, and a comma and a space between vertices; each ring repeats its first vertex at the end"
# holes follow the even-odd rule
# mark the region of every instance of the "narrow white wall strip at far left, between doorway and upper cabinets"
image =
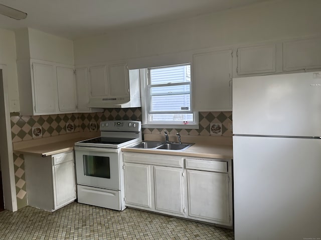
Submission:
POLYGON ((2 28, 0 28, 0 64, 6 65, 10 109, 19 109, 15 32, 2 28))

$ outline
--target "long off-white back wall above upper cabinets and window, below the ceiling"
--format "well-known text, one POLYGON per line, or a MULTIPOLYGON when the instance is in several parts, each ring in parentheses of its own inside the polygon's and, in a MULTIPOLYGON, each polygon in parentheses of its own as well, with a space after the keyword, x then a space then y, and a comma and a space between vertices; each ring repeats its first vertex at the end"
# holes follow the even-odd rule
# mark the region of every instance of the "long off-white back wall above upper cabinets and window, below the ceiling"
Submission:
POLYGON ((313 36, 321 32, 319 9, 320 0, 273 0, 76 39, 75 64, 152 56, 138 59, 144 67, 162 54, 313 36))

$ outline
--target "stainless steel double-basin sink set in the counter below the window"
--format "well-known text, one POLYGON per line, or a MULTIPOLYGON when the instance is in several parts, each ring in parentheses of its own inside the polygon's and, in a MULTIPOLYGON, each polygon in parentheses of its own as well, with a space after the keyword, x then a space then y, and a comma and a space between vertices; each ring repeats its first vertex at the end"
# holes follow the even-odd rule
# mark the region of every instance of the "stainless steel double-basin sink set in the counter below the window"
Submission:
POLYGON ((148 149, 155 149, 155 150, 177 150, 182 151, 194 143, 176 143, 176 142, 161 142, 161 141, 141 141, 129 147, 132 148, 148 148, 148 149))

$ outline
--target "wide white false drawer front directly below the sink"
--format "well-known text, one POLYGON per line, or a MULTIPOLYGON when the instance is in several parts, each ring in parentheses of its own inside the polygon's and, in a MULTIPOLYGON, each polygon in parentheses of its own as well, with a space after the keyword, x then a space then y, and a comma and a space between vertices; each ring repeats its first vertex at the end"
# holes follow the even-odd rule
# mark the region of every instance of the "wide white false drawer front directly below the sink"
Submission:
POLYGON ((163 154, 124 152, 123 161, 161 166, 183 167, 183 157, 163 154))

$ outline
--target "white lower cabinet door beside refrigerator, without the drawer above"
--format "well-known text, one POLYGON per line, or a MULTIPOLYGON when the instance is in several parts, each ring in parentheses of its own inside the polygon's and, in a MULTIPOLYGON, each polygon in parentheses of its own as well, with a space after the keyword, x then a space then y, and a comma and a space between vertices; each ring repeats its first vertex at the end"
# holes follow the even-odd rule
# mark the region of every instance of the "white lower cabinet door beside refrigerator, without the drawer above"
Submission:
POLYGON ((189 215, 229 224, 228 174, 187 170, 189 215))

